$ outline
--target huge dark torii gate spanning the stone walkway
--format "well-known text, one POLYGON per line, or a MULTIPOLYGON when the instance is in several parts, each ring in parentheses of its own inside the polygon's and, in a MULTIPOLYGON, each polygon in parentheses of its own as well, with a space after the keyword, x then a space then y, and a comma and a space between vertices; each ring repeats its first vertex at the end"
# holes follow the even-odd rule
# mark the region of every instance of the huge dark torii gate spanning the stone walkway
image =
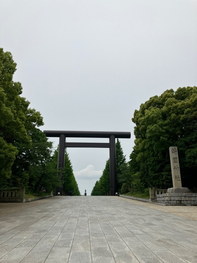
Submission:
MULTIPOLYGON (((64 168, 65 147, 109 148, 110 195, 116 195, 116 138, 131 138, 130 132, 123 131, 44 131, 47 137, 60 137, 57 168, 64 168), (69 143, 66 137, 75 138, 109 138, 109 143, 69 143)), ((63 180, 63 174, 62 174, 63 180)), ((56 187, 55 195, 63 194, 63 188, 56 187)))

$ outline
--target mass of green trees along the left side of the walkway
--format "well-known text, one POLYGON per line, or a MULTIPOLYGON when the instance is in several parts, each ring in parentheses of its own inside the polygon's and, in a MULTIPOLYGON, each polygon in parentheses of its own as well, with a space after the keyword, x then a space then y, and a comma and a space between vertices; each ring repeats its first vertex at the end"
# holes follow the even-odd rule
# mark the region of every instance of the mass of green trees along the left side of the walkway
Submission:
MULTIPOLYGON (((0 188, 26 186, 38 191, 44 187, 50 192, 62 186, 56 152, 52 156, 53 143, 38 128, 44 124, 41 114, 21 97, 21 83, 13 82, 15 70, 11 53, 0 49, 0 188)), ((72 170, 67 154, 65 162, 65 171, 69 166, 72 170)), ((73 172, 65 174, 73 193, 79 195, 73 172)))

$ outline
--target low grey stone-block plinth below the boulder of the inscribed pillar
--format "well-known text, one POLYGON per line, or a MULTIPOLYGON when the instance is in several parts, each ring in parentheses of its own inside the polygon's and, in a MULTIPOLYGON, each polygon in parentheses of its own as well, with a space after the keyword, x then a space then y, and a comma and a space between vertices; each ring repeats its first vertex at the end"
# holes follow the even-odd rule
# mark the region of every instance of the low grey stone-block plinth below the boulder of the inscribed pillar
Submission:
POLYGON ((196 206, 197 193, 165 193, 157 195, 157 203, 196 206))

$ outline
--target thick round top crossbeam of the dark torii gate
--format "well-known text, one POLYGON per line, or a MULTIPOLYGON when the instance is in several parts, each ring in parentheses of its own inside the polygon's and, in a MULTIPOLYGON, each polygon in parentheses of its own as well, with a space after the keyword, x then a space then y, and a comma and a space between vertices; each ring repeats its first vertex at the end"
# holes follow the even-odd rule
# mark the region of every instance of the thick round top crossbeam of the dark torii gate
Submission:
POLYGON ((115 138, 131 138, 131 133, 127 131, 44 131, 47 137, 65 137, 75 138, 109 138, 114 135, 115 138))

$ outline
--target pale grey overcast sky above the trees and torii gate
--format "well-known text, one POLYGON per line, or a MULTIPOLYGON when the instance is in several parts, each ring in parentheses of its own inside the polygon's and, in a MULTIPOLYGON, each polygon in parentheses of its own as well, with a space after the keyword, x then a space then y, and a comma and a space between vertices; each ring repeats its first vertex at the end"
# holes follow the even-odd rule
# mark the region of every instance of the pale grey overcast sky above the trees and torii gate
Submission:
MULTIPOLYGON (((130 131, 120 139, 129 160, 134 110, 166 89, 197 86, 197 1, 0 0, 0 47, 41 130, 130 131)), ((109 149, 67 151, 90 195, 109 149)))

